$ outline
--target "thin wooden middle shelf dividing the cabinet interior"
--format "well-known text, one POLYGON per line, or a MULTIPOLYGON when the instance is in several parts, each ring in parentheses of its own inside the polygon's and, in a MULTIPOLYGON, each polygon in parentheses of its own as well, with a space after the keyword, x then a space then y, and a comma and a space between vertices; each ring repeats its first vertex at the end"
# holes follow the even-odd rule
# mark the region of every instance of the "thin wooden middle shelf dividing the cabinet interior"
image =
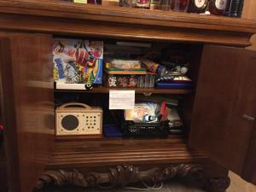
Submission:
POLYGON ((78 92, 78 93, 108 93, 109 90, 135 90, 136 93, 145 93, 145 94, 190 94, 192 90, 183 90, 183 89, 142 89, 142 88, 107 88, 107 87, 96 87, 92 90, 56 90, 55 92, 78 92))

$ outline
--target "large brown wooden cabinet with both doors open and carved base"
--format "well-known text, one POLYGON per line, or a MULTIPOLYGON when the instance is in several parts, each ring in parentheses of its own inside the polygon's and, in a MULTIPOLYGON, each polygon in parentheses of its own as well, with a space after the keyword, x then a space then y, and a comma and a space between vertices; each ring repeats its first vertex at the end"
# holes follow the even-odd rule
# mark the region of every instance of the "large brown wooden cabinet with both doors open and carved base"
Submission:
MULTIPOLYGON (((50 182, 87 187, 191 176, 200 178, 209 191, 224 191, 228 170, 256 183, 256 54, 243 49, 256 33, 253 20, 0 0, 0 29, 0 95, 10 191, 31 192, 50 182), (136 90, 182 95, 189 137, 55 137, 53 35, 189 46, 195 91, 136 90)), ((83 94, 106 93, 105 88, 83 94)))

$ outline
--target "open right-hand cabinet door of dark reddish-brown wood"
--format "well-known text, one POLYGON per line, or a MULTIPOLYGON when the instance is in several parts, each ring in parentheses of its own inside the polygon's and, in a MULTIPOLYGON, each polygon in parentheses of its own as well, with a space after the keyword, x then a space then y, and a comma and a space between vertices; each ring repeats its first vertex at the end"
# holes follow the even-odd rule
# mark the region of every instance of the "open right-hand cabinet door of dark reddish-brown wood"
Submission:
MULTIPOLYGON (((256 162, 256 52, 206 45, 197 83, 189 147, 253 182, 256 162), (253 162, 254 160, 254 162, 253 162), (245 170, 247 162, 251 169, 245 170)), ((254 180, 255 182, 255 180, 254 180)))

